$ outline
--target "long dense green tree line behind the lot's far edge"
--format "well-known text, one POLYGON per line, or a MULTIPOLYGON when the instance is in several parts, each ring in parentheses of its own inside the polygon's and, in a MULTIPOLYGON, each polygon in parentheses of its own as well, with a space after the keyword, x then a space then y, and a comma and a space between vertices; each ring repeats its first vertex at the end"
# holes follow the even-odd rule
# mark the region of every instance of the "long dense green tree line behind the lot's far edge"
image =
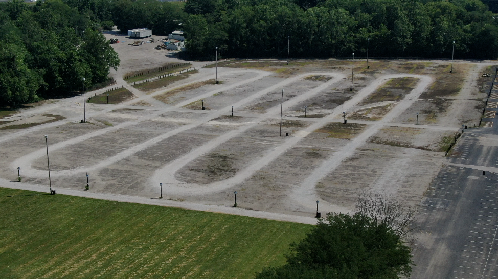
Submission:
POLYGON ((495 58, 497 19, 479 0, 188 0, 193 58, 495 58), (369 39, 369 40, 368 40, 369 39))

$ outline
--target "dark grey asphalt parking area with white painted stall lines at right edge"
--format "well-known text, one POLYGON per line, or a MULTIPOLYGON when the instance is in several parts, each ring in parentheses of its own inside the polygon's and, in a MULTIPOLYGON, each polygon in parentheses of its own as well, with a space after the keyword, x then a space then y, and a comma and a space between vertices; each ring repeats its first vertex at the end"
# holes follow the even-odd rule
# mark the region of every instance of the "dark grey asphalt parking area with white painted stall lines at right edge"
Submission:
MULTIPOLYGON (((492 102, 498 90, 487 116, 492 102)), ((483 122, 464 130, 419 205, 411 278, 498 278, 498 120, 483 122)))

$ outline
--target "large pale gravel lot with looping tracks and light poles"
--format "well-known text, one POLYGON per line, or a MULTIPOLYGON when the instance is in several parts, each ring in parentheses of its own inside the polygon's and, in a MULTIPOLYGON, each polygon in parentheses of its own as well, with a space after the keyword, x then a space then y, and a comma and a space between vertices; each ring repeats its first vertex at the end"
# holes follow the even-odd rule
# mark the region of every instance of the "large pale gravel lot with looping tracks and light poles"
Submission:
POLYGON ((120 40, 125 43, 113 47, 122 67, 112 75, 135 98, 86 104, 89 123, 78 123, 80 96, 3 119, 66 117, 0 130, 2 186, 13 186, 6 181, 16 180, 20 167, 16 187, 48 190, 47 134, 53 187, 82 191, 88 173, 90 197, 121 194, 141 202, 159 196, 163 183, 163 196, 174 206, 222 211, 237 191, 236 214, 278 213, 299 222, 314 215, 316 200, 322 212, 351 211, 362 191, 384 191, 414 205, 441 168, 444 138, 462 124, 479 123, 480 76, 491 65, 458 61, 449 74, 447 61, 372 61, 370 69, 355 61, 350 91, 347 61, 232 61, 218 68, 222 84, 210 81, 214 68, 198 68, 145 94, 122 74, 182 61, 152 44, 120 40), (342 126, 343 112, 351 125, 342 126))

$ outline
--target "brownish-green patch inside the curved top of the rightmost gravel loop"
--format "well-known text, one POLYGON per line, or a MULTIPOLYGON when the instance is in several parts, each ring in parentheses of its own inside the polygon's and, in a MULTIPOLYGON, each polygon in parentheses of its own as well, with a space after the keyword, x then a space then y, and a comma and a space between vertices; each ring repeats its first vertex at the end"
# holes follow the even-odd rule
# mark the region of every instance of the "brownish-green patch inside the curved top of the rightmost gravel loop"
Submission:
POLYGON ((401 100, 415 88, 417 81, 418 79, 416 78, 391 79, 380 86, 377 91, 370 94, 359 105, 401 100))

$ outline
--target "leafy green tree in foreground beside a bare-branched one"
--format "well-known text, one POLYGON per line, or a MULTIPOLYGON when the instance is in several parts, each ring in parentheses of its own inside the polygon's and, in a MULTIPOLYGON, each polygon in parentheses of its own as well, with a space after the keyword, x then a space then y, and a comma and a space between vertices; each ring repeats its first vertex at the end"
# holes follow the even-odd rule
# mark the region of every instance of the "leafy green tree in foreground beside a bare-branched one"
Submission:
POLYGON ((413 262, 411 249, 402 239, 405 235, 389 222, 379 222, 363 212, 329 213, 304 240, 291 244, 292 252, 284 266, 265 268, 256 278, 408 277, 413 262))

